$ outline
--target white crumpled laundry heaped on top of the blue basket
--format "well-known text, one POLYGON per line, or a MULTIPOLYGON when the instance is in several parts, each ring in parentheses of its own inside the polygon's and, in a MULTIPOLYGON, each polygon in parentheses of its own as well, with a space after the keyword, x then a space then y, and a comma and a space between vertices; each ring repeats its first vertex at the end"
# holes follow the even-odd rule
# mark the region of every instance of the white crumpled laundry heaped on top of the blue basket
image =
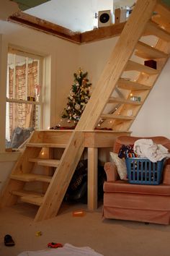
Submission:
POLYGON ((136 140, 133 150, 139 158, 148 158, 153 163, 170 158, 169 150, 163 145, 153 143, 151 139, 136 140))

